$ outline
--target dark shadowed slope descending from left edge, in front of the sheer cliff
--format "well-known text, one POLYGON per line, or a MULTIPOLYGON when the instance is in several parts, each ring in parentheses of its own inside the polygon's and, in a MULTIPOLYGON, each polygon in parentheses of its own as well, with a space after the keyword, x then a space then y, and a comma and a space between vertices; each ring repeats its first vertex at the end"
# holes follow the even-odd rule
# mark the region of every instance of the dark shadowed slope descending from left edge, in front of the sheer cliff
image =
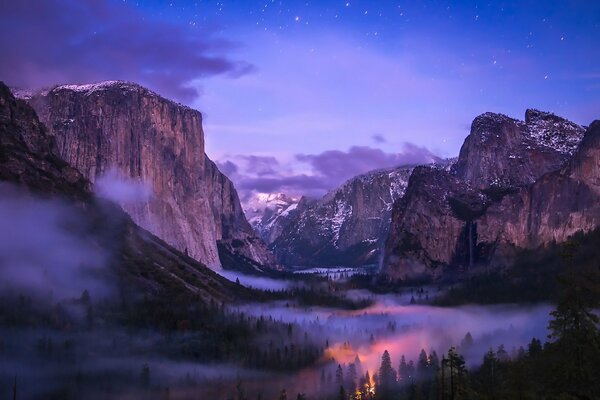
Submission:
MULTIPOLYGON (((109 255, 108 268, 104 272, 110 271, 116 278, 119 297, 124 304, 127 299, 139 300, 142 296, 175 298, 186 295, 205 303, 248 297, 244 288, 138 227, 120 207, 95 197, 91 182, 60 157, 56 138, 40 122, 35 111, 26 102, 16 99, 2 82, 0 185, 3 200, 52 199, 64 203, 69 215, 79 220, 77 224, 71 220, 61 221, 64 225, 61 226, 66 229, 77 225, 72 235, 109 255)), ((14 228, 29 229, 27 226, 14 228)), ((35 231, 32 240, 38 243, 43 232, 37 226, 32 229, 35 231)), ((60 254, 65 258, 80 250, 72 249, 63 254, 64 248, 52 249, 49 256, 60 254)), ((45 263, 45 260, 38 261, 45 263)), ((13 261, 7 258, 8 264, 3 264, 4 267, 8 268, 13 261)), ((19 265, 19 268, 23 266, 19 265)), ((67 276, 63 279, 75 278, 67 276)))

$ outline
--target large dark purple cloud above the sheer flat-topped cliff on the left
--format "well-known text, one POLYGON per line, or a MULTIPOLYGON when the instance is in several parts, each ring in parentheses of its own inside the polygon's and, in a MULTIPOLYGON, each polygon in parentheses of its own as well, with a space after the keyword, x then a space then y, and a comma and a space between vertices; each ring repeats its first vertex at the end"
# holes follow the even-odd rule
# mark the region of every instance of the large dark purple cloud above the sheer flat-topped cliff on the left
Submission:
POLYGON ((235 43, 208 29, 143 16, 126 3, 4 1, 0 14, 0 52, 10 57, 0 76, 12 86, 122 79, 191 102, 199 95, 188 86, 192 80, 253 70, 227 56, 235 43))

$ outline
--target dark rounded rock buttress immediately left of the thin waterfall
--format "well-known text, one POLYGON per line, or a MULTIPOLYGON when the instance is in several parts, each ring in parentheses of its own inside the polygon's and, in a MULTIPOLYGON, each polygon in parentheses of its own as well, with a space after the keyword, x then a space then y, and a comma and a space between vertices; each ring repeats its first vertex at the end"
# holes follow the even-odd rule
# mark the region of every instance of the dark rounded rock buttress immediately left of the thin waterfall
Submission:
POLYGON ((489 204, 482 192, 450 172, 417 167, 393 209, 384 266, 393 278, 437 276, 451 262, 472 263, 473 224, 489 204))

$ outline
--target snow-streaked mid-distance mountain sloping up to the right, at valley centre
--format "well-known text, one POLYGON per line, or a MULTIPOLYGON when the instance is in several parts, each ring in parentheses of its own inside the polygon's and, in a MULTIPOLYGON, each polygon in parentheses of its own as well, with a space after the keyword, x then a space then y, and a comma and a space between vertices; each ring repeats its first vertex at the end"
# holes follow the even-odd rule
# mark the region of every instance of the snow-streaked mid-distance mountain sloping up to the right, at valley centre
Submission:
POLYGON ((369 172, 309 205, 271 248, 289 266, 377 263, 392 205, 404 194, 412 167, 369 172))

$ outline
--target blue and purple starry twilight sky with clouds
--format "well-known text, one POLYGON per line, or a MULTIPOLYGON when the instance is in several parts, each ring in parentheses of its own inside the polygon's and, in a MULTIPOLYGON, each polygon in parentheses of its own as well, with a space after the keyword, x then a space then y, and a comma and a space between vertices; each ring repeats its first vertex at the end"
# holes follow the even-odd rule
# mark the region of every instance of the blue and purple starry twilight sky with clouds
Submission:
POLYGON ((23 0, 0 19, 0 80, 194 107, 242 196, 456 156, 486 111, 600 118, 598 1, 23 0))

